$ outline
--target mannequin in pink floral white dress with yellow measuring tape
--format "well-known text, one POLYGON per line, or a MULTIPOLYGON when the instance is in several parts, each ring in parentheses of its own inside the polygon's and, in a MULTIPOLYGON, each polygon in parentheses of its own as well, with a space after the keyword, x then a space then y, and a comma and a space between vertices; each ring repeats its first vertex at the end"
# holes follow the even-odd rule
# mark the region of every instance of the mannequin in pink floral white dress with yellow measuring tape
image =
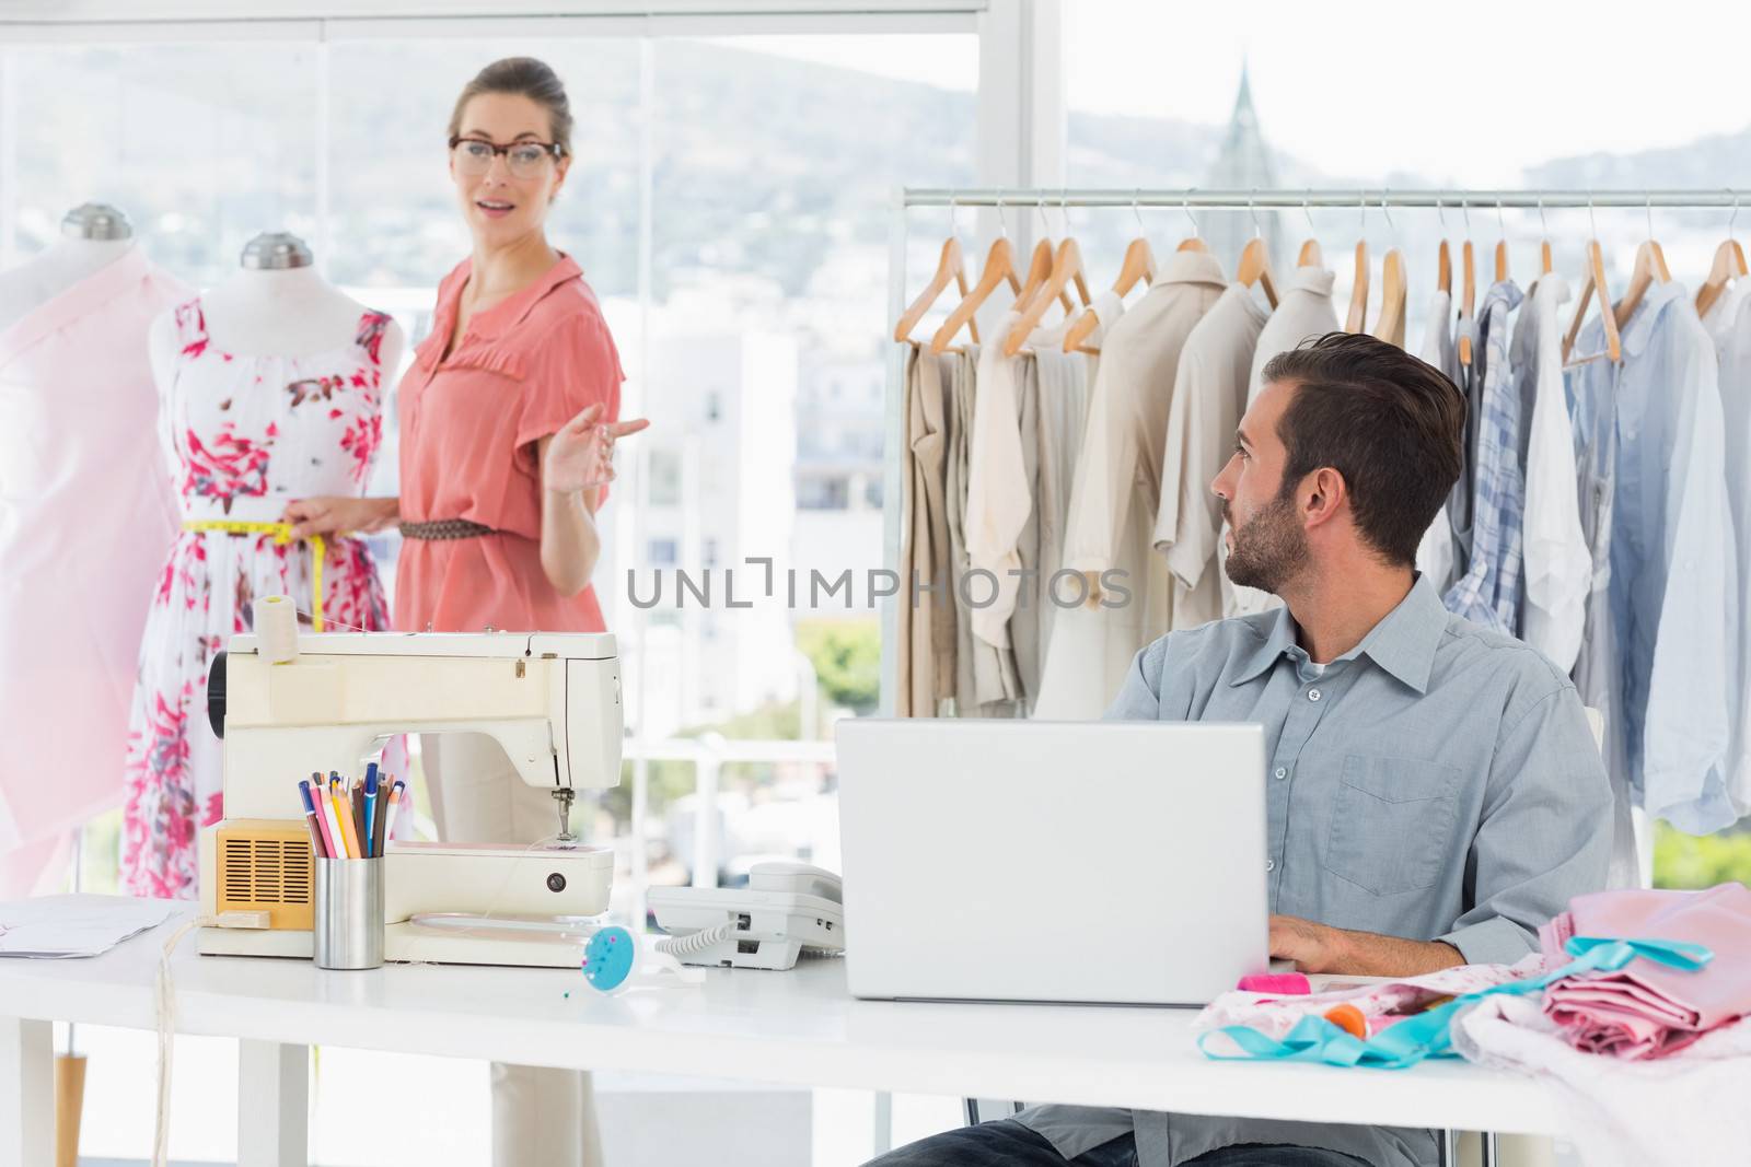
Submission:
POLYGON ((263 595, 292 597, 315 630, 389 628, 369 546, 355 532, 291 539, 284 514, 292 499, 364 493, 404 339, 275 233, 217 289, 163 311, 147 348, 180 534, 138 642, 123 887, 191 898, 194 829, 222 815, 222 752, 201 721, 212 654, 263 595))

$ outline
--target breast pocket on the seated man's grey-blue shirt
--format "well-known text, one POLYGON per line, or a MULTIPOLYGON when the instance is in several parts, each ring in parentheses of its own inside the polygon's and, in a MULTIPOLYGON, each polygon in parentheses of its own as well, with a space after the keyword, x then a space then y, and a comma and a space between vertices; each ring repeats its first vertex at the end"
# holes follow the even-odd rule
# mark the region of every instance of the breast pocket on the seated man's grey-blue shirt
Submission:
POLYGON ((1376 896, 1434 887, 1453 845, 1457 766, 1345 754, 1326 870, 1376 896))

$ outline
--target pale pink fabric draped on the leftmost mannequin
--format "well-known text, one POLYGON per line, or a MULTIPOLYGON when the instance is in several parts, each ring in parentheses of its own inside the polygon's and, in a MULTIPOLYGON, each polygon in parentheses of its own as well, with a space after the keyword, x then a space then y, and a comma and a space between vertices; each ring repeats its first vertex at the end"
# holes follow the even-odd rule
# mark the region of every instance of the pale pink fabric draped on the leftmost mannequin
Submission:
POLYGON ((0 856, 123 801, 177 514, 145 336, 184 294, 133 248, 0 332, 0 856))

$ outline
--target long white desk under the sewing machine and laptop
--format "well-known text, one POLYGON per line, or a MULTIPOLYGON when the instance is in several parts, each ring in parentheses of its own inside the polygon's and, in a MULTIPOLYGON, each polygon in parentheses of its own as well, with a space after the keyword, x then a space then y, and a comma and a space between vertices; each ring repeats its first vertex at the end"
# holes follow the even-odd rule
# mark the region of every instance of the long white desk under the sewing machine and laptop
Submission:
MULTIPOLYGON (((0 1167, 49 1162, 51 1022, 154 1029, 152 976, 179 920, 89 961, 0 961, 0 1167)), ((853 1001, 837 961, 791 973, 713 971, 700 989, 620 997, 601 997, 581 975, 552 969, 329 973, 306 961, 200 957, 193 936, 179 945, 173 969, 177 1032, 242 1039, 242 1167, 306 1162, 310 1045, 793 1087, 1557 1134, 1541 1085, 1457 1060, 1410 1071, 1210 1062, 1192 1045, 1191 1011, 853 1001)))

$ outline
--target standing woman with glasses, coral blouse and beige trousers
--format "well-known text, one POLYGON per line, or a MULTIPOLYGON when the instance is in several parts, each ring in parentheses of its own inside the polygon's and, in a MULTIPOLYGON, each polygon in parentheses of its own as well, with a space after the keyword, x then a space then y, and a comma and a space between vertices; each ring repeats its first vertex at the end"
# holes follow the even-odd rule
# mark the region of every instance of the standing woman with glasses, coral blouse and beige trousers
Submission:
MULTIPOLYGON (((450 119, 450 177, 475 241, 438 287, 399 390, 401 497, 301 499, 296 535, 401 527, 394 625, 410 632, 602 632, 590 588, 613 481, 620 355, 576 261, 543 229, 571 168, 571 108, 529 58, 489 65, 450 119)), ((438 831, 527 842, 559 828, 492 738, 427 735, 438 831)), ((494 1162, 597 1162, 588 1081, 494 1066, 494 1162)))

